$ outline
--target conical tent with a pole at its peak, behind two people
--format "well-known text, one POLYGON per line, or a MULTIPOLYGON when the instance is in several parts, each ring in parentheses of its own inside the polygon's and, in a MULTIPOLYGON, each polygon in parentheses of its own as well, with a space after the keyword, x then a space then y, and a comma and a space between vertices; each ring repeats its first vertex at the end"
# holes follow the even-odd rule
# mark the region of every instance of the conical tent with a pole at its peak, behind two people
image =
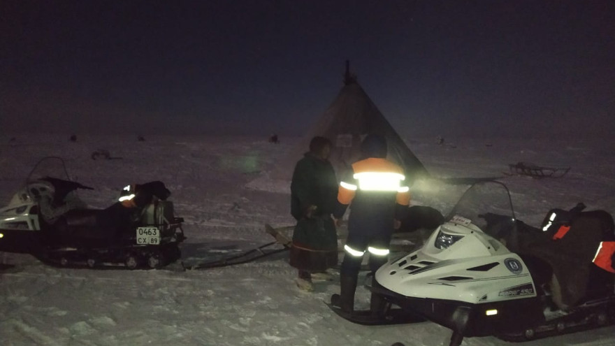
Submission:
POLYGON ((303 140, 294 147, 289 156, 280 162, 274 178, 290 179, 294 164, 303 157, 314 136, 323 136, 331 140, 333 148, 329 160, 338 177, 343 170, 360 158, 361 140, 368 134, 379 134, 386 138, 388 145, 387 159, 402 166, 410 184, 419 178, 428 177, 421 161, 410 151, 404 141, 391 127, 356 78, 349 75, 345 85, 331 106, 321 116, 316 126, 303 140))

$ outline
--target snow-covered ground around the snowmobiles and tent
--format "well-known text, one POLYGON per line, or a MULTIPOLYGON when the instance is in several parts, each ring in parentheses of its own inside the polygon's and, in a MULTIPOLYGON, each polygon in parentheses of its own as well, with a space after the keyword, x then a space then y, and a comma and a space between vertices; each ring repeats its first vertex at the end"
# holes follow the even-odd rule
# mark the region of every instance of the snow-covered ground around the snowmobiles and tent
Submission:
MULTIPOLYGON (((104 208, 133 182, 162 180, 188 239, 183 261, 196 264, 233 256, 273 241, 263 229, 293 224, 288 182, 268 172, 297 138, 225 136, 79 135, 0 138, 0 201, 8 203, 36 161, 66 160, 71 178, 94 187, 80 196, 104 208), (122 159, 92 160, 95 150, 122 159)), ((613 143, 575 138, 406 138, 428 171, 440 177, 502 176, 519 161, 567 167, 558 179, 505 176, 517 217, 537 226, 547 210, 584 202, 615 213, 613 143), (489 145, 487 145, 489 144, 489 145)), ((299 158, 297 158, 299 159, 299 158)), ((292 169, 292 167, 289 167, 292 169)), ((418 182, 413 203, 447 212, 465 187, 418 182)), ((45 266, 26 254, 0 252, 0 345, 448 345, 450 331, 424 322, 359 326, 340 319, 323 301, 337 293, 339 276, 312 293, 294 284, 287 252, 260 261, 207 271, 124 271, 45 266)), ((168 270, 167 270, 168 269, 168 270)), ((363 275, 361 275, 363 278, 363 275)), ((359 287, 357 307, 368 304, 359 287)), ((614 345, 615 326, 535 340, 526 345, 614 345)), ((463 345, 507 345, 493 337, 463 345)))

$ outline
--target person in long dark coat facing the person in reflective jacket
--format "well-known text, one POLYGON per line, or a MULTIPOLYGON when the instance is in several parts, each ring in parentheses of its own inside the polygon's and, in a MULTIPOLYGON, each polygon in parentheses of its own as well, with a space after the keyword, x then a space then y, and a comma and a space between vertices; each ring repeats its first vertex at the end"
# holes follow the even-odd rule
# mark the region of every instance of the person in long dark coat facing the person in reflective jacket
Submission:
POLYGON ((338 180, 328 161, 331 141, 314 137, 310 151, 295 166, 291 182, 293 232, 290 264, 298 269, 297 285, 311 291, 312 273, 338 263, 338 237, 331 218, 338 196, 338 180))

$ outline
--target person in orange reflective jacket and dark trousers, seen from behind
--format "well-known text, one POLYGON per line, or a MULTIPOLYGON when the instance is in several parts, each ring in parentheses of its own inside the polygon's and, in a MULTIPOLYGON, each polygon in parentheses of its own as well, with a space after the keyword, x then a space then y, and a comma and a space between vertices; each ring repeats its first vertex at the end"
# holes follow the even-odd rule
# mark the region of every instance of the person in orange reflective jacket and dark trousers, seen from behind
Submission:
MULTIPOLYGON (((399 226, 410 204, 403 169, 386 159, 386 139, 368 135, 361 143, 361 161, 352 172, 342 176, 338 189, 337 221, 352 203, 348 219, 348 238, 340 271, 340 296, 331 301, 345 312, 354 310, 354 292, 363 254, 369 252, 370 270, 386 263, 393 230, 399 226)), ((337 223, 337 222, 336 222, 337 223)), ((377 284, 374 280, 374 284, 377 284)), ((372 294, 372 313, 382 310, 384 301, 372 294)))

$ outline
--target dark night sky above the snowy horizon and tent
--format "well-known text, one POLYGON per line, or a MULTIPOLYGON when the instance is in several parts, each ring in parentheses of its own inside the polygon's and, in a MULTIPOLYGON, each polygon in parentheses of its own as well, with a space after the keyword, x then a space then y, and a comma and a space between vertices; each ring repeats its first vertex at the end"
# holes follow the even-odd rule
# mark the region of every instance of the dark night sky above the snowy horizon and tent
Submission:
POLYGON ((403 134, 615 131, 615 1, 0 1, 0 133, 301 134, 345 59, 403 134))

